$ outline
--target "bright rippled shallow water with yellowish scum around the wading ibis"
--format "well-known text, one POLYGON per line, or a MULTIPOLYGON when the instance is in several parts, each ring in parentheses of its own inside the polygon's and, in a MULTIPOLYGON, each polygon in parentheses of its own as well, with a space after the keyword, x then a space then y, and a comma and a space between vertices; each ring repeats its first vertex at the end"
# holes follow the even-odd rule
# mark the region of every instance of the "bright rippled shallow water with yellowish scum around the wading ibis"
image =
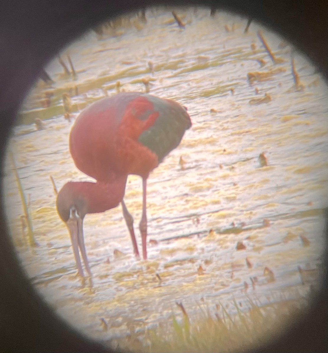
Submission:
MULTIPOLYGON (((57 61, 49 64, 46 71, 55 83, 36 83, 11 140, 39 243, 34 249, 22 245, 22 205, 8 161, 5 202, 21 261, 55 311, 99 339, 143 331, 168 319, 172 311, 179 315, 176 301, 192 315, 201 298, 215 310, 218 301, 231 302, 232 296, 244 308, 247 296, 261 304, 304 297, 311 281, 302 284, 298 266, 315 269, 320 264, 328 196, 326 84, 295 54, 304 86, 295 90, 291 47, 279 49, 281 38, 262 28, 274 54, 285 60, 273 64, 254 23, 244 34, 247 21, 240 17, 219 13, 211 18, 208 10, 179 14, 184 30, 170 12, 150 10, 147 24, 137 25, 139 31, 131 25, 100 40, 90 32, 72 44, 65 52, 77 78, 63 77, 57 61), (261 59, 263 67, 257 61, 261 59), (153 75, 148 61, 153 62, 153 75), (269 74, 251 84, 249 72, 269 74), (64 119, 61 96, 73 92, 76 116, 106 92, 115 94, 117 80, 127 91, 145 91, 142 78, 151 79, 151 94, 187 106, 193 126, 148 180, 148 239, 158 242, 148 245, 148 261, 133 256, 121 207, 87 215, 84 234, 93 283, 81 285, 49 179, 52 175, 58 189, 69 180, 90 180, 70 157, 74 118, 71 123, 64 119), (48 108, 41 104, 45 91, 54 93, 48 108), (269 102, 252 104, 265 93, 269 102), (45 130, 35 130, 35 118, 44 120, 45 130), (262 152, 268 166, 260 166, 262 152), (238 241, 245 250, 236 250, 238 241), (274 280, 264 274, 265 267, 274 280), (256 277, 254 286, 251 277, 256 277), (108 331, 102 329, 101 318, 109 323, 108 331)), ((141 202, 141 180, 130 176, 125 203, 136 234, 141 202)))

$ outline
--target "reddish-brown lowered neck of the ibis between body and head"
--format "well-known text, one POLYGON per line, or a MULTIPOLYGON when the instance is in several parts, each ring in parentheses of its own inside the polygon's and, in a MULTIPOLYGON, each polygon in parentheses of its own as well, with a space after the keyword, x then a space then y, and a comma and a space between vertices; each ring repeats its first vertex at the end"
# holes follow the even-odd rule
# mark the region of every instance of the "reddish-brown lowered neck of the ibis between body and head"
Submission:
POLYGON ((127 175, 117 176, 106 183, 77 183, 79 193, 87 202, 87 213, 101 213, 115 208, 122 201, 127 175))

